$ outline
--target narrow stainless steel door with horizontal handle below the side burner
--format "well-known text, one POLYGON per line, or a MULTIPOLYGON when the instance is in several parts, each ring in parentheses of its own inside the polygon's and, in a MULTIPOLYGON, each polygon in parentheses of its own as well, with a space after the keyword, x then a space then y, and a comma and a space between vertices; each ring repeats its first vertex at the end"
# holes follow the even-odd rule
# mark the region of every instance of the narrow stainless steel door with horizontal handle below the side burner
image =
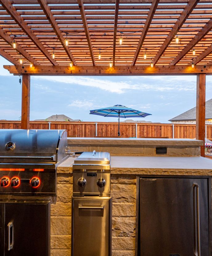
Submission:
POLYGON ((73 200, 72 255, 108 256, 109 200, 73 200))

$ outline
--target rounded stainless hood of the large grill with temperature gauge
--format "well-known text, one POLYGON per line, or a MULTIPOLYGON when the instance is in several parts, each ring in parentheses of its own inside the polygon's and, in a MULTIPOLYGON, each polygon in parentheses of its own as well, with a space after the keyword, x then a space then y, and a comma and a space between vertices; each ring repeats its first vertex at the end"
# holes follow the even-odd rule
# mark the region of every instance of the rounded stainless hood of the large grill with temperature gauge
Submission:
POLYGON ((58 162, 66 156, 65 130, 0 130, 0 162, 58 162), (12 160, 11 160, 12 159, 12 160))

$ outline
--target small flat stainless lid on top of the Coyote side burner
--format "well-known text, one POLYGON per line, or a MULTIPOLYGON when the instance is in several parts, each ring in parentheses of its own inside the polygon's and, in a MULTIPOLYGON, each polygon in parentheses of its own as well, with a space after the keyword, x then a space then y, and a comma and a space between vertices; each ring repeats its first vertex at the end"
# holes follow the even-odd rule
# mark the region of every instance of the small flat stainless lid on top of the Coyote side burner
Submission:
POLYGON ((110 164, 110 154, 108 152, 83 152, 77 159, 74 161, 74 165, 84 164, 110 164))

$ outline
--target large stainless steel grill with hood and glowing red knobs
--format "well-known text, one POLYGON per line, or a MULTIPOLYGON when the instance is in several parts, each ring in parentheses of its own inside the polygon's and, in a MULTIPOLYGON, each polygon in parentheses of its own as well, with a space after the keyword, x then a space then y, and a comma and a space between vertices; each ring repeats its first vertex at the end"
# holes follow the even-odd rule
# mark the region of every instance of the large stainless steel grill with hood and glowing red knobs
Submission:
POLYGON ((0 130, 0 193, 56 195, 65 130, 0 130))

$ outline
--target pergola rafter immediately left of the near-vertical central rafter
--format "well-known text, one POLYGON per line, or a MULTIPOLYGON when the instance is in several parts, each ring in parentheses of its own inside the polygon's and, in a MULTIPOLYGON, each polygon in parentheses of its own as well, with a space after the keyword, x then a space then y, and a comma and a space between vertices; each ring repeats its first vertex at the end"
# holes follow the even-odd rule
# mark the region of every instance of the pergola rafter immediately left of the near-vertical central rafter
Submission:
POLYGON ((85 35, 87 38, 87 42, 88 42, 88 48, 91 54, 91 59, 92 59, 92 63, 93 65, 95 65, 95 58, 94 58, 94 53, 93 53, 93 48, 92 48, 92 43, 91 43, 91 37, 89 34, 89 30, 88 30, 88 23, 87 23, 87 19, 86 19, 86 14, 85 14, 85 8, 84 8, 84 4, 83 4, 83 0, 77 0, 79 8, 80 8, 80 14, 82 17, 82 21, 83 21, 83 26, 84 26, 84 30, 85 30, 85 35))

